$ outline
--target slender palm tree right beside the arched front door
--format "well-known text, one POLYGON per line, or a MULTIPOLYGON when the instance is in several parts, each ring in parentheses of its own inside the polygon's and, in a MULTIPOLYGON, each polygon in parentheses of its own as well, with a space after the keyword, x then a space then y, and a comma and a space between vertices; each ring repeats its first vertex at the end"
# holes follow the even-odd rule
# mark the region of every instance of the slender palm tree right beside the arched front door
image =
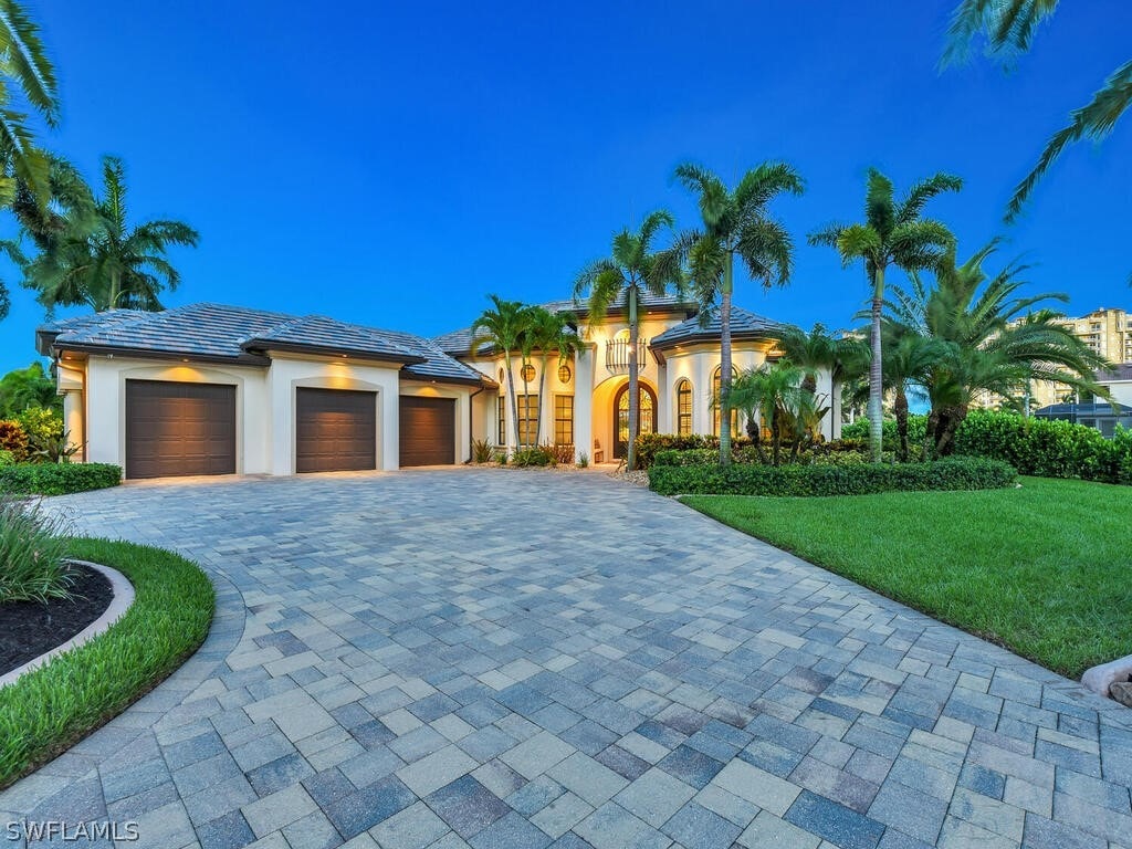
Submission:
POLYGON ((625 465, 636 469, 636 437, 641 429, 641 387, 637 368, 638 317, 642 292, 664 294, 670 286, 680 291, 680 255, 675 249, 653 251, 652 242, 664 228, 674 224, 671 213, 658 209, 645 216, 635 233, 628 229, 614 235, 612 252, 591 263, 574 281, 574 300, 589 299, 590 324, 600 325, 609 308, 625 298, 629 325, 629 439, 625 465))

